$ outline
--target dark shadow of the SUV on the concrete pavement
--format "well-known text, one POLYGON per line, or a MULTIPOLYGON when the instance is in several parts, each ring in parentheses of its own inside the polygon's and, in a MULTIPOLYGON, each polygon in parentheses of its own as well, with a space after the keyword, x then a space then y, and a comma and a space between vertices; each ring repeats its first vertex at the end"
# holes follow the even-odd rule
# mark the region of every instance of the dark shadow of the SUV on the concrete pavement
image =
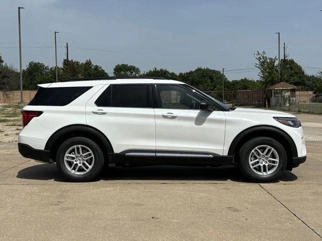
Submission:
MULTIPOLYGON (((68 182, 55 164, 38 164, 18 172, 17 178, 30 180, 54 180, 68 182)), ((292 172, 285 171, 275 182, 289 182, 297 179, 292 172)), ((110 167, 95 180, 154 180, 154 181, 233 181, 249 183, 234 166, 225 167, 110 167)), ((94 181, 94 182, 95 182, 94 181)))

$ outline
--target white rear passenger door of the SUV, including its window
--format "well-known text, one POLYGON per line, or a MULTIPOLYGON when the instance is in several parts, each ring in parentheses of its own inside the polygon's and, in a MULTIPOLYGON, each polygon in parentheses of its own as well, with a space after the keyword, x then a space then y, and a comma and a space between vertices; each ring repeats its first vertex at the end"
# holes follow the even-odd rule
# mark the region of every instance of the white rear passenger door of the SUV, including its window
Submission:
POLYGON ((155 121, 150 84, 112 84, 86 104, 89 126, 110 140, 115 153, 155 151, 155 121))

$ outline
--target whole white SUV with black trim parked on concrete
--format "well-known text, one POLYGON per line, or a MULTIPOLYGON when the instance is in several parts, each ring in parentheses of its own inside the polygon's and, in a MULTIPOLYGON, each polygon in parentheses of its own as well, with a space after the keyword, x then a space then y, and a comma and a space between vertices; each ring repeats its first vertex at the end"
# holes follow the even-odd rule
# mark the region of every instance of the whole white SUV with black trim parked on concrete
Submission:
POLYGON ((19 152, 56 162, 71 181, 103 165, 238 165, 271 181, 306 160, 303 130, 291 114, 231 108, 175 80, 77 79, 40 84, 23 108, 19 152))

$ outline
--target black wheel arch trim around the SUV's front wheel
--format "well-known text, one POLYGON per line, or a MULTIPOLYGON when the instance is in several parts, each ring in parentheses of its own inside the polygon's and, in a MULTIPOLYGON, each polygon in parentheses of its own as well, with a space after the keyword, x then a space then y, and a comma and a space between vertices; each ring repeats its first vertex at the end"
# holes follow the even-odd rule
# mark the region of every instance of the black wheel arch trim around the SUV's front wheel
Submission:
POLYGON ((270 137, 281 143, 287 154, 286 170, 292 170, 293 157, 298 157, 293 139, 282 129, 273 126, 255 126, 240 132, 231 142, 228 155, 238 161, 238 150, 249 140, 255 137, 270 137))

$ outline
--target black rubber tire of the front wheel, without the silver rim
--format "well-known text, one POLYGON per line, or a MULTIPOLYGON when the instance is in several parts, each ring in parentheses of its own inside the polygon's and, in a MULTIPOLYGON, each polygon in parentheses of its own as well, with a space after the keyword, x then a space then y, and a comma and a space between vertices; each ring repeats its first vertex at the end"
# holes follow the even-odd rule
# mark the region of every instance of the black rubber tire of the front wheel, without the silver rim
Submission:
POLYGON ((287 164, 287 155, 283 146, 276 140, 266 137, 254 138, 247 142, 240 149, 239 157, 239 167, 243 174, 250 180, 257 182, 272 181, 276 179, 285 170, 287 164), (252 150, 261 145, 268 145, 273 147, 279 156, 279 163, 276 170, 267 176, 262 176, 255 173, 249 165, 249 157, 251 155, 252 150))

